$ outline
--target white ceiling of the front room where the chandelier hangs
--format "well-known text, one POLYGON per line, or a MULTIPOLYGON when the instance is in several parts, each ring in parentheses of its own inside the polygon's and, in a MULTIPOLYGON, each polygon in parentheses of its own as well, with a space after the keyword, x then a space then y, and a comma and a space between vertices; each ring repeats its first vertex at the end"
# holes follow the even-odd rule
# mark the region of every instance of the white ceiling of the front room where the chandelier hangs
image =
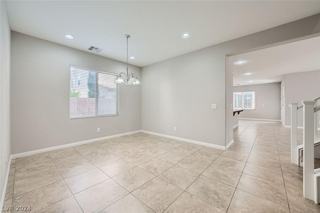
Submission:
POLYGON ((7 10, 14 31, 120 61, 130 34, 129 63, 145 66, 319 13, 320 1, 9 0, 7 10))

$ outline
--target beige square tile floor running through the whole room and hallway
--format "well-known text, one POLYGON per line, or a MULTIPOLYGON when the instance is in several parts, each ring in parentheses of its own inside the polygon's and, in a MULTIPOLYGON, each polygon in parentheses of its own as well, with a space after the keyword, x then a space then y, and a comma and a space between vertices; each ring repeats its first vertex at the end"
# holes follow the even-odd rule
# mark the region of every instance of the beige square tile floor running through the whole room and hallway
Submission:
POLYGON ((39 213, 319 213, 289 129, 240 121, 217 150, 138 133, 12 160, 5 206, 39 213))

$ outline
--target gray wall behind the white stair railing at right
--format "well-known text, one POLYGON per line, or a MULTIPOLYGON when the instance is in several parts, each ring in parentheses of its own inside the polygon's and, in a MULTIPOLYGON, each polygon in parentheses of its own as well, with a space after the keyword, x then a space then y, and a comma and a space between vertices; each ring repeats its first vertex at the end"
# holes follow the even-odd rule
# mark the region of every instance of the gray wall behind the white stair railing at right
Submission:
MULTIPOLYGON (((299 72, 286 74, 282 82, 285 82, 285 125, 291 125, 290 102, 301 105, 303 100, 312 100, 320 96, 320 70, 312 72, 299 72)), ((320 105, 320 101, 318 101, 320 105)), ((298 110, 298 126, 303 126, 303 109, 298 110)), ((318 112, 318 128, 320 128, 320 113, 318 112)))

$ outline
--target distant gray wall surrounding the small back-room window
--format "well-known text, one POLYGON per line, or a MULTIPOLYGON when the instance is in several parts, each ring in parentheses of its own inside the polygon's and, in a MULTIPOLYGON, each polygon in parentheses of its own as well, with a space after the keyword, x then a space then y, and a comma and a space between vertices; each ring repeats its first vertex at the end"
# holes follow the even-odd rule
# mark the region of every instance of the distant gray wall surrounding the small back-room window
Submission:
POLYGON ((240 112, 239 118, 280 120, 280 84, 279 82, 234 86, 233 92, 255 91, 255 109, 240 112))

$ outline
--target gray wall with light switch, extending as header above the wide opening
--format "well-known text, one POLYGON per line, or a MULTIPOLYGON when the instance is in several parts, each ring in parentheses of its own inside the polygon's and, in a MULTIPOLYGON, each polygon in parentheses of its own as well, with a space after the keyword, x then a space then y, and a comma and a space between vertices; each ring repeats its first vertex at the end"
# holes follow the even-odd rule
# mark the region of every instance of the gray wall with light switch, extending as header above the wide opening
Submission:
POLYGON ((315 34, 319 21, 320 14, 313 15, 143 67, 142 129, 225 146, 234 123, 232 70, 225 55, 315 34))

